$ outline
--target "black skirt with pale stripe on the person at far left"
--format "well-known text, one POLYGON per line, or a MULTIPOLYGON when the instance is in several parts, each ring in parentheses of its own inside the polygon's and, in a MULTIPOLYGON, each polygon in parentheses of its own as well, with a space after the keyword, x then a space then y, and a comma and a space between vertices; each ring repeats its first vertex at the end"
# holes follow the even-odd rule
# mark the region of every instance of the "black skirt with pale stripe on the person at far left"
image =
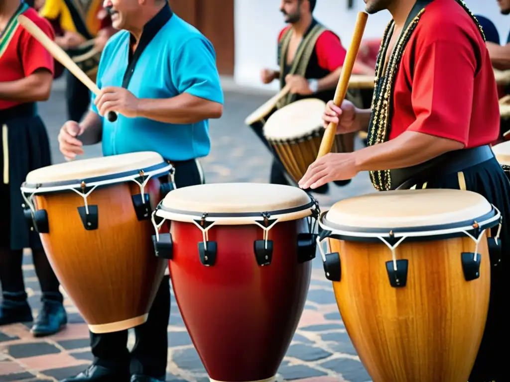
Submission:
POLYGON ((30 171, 51 165, 46 127, 32 103, 0 110, 0 127, 0 246, 41 249, 39 234, 30 229, 24 217, 20 187, 30 171))

